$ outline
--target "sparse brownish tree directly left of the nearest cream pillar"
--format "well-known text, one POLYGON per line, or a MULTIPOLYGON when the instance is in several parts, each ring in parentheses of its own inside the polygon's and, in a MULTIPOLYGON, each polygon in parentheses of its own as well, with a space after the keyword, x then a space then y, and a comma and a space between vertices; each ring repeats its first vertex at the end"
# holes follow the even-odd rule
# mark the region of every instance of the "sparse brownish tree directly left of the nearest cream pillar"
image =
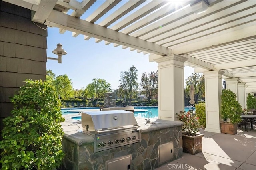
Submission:
POLYGON ((140 86, 142 87, 142 94, 148 98, 148 104, 158 91, 158 71, 151 73, 143 73, 141 76, 140 86))

